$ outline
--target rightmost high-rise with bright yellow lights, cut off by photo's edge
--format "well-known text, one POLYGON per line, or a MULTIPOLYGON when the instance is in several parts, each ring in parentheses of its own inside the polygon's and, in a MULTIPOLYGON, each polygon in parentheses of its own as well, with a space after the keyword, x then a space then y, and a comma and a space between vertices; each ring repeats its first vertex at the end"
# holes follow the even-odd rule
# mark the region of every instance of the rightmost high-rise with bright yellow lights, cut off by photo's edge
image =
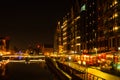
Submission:
POLYGON ((98 0, 98 51, 120 47, 120 1, 98 0))

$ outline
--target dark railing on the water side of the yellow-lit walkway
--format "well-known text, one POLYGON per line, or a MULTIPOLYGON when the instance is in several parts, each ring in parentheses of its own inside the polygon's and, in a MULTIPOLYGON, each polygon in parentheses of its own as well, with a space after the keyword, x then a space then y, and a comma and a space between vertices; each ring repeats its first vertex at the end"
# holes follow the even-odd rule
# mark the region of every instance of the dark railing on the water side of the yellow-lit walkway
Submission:
POLYGON ((102 77, 96 76, 94 74, 88 73, 87 71, 78 71, 69 65, 65 65, 57 61, 58 67, 72 76, 72 79, 79 79, 79 80, 105 80, 102 77))

